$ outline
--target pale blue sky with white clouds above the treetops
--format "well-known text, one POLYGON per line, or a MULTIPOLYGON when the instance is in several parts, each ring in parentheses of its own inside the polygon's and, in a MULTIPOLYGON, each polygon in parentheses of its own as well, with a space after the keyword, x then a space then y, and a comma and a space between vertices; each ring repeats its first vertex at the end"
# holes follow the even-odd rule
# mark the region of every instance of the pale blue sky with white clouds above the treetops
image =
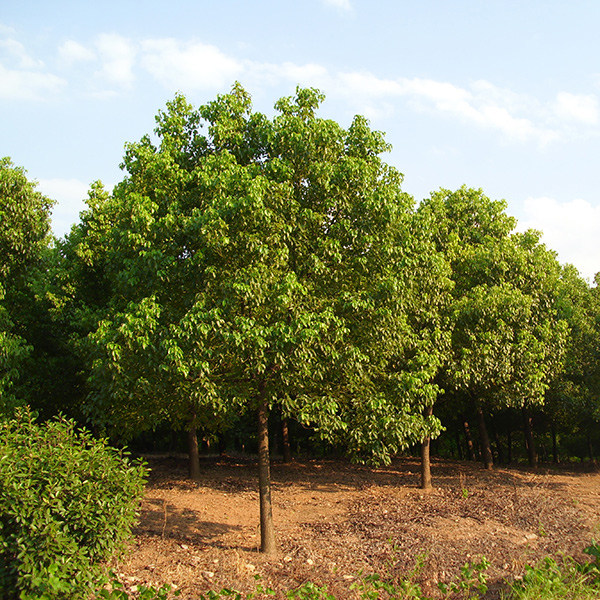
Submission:
POLYGON ((273 115, 316 87, 321 116, 385 132, 415 202, 481 188, 591 281, 598 31, 597 0, 1 0, 0 156, 56 200, 62 237, 176 93, 239 81, 273 115))

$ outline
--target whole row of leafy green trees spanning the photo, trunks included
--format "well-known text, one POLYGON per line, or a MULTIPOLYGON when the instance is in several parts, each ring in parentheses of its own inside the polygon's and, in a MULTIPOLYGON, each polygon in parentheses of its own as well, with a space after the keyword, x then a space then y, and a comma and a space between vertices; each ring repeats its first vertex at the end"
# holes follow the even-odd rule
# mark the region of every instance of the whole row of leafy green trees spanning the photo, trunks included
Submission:
POLYGON ((322 100, 298 89, 268 118, 240 85, 199 109, 176 96, 62 240, 0 165, 3 410, 129 439, 168 424, 192 475, 198 430, 255 414, 265 552, 272 411, 356 460, 420 444, 424 487, 439 415, 477 415, 488 467, 492 413, 599 416, 597 285, 481 190, 415 206, 383 135, 319 118, 322 100))

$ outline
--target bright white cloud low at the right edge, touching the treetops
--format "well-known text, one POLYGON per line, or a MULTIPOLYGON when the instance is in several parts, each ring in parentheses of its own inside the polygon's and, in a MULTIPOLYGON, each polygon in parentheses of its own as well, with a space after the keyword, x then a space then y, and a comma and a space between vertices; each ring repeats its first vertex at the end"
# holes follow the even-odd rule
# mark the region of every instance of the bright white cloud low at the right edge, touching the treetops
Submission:
POLYGON ((519 231, 542 231, 542 241, 558 253, 559 260, 572 263, 592 281, 600 271, 600 205, 582 199, 527 198, 524 212, 519 231))

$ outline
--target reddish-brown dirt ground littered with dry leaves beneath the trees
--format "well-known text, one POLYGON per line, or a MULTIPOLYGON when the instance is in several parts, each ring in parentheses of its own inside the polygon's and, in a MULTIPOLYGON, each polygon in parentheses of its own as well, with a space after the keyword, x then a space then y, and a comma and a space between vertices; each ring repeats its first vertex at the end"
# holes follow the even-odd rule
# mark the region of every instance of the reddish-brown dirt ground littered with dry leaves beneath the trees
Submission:
POLYGON ((151 459, 141 520, 116 572, 129 587, 168 583, 182 599, 223 587, 248 592, 256 577, 277 591, 306 581, 354 598, 359 573, 407 576, 435 595, 437 583, 485 556, 490 591, 548 554, 582 558, 599 537, 600 473, 568 467, 497 468, 434 461, 434 489, 418 488, 419 464, 371 469, 340 460, 272 467, 280 552, 258 552, 256 465, 206 459, 198 482, 183 458, 151 459))

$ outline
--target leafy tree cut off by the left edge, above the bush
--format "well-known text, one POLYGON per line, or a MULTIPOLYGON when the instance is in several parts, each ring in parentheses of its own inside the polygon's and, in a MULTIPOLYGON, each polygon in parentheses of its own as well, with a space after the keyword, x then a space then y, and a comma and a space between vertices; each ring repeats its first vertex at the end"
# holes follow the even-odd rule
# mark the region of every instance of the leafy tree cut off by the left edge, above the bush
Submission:
POLYGON ((22 168, 0 159, 0 414, 29 399, 27 322, 33 273, 50 241, 51 206, 22 168))

